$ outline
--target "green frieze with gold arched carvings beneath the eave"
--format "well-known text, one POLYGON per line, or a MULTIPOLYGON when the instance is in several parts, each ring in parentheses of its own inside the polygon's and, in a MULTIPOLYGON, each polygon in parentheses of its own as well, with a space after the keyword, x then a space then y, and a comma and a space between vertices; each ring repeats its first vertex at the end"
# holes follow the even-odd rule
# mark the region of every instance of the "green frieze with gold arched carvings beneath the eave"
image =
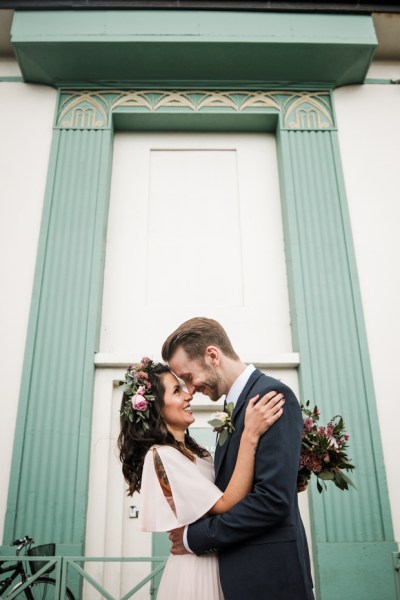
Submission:
POLYGON ((329 92, 212 90, 64 90, 57 127, 107 129, 114 111, 129 112, 257 112, 282 116, 284 129, 334 128, 329 92))

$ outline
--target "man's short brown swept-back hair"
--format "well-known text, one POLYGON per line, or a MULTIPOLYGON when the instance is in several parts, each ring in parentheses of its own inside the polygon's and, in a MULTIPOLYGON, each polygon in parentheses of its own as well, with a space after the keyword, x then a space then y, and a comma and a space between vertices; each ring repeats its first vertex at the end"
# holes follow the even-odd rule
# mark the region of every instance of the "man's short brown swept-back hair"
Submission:
POLYGON ((222 325, 206 317, 194 317, 179 325, 165 340, 162 357, 165 361, 171 360, 182 347, 190 359, 204 361, 208 346, 217 346, 229 358, 239 359, 222 325))

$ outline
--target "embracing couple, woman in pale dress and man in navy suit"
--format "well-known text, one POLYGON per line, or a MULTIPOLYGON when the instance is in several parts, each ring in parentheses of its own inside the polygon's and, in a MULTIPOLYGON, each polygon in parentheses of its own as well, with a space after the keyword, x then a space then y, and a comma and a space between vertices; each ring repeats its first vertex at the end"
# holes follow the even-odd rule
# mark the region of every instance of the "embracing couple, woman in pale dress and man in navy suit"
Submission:
POLYGON ((244 364, 212 319, 183 323, 162 356, 128 369, 118 440, 140 529, 170 531, 158 600, 313 600, 294 393, 244 364), (188 431, 195 392, 234 406, 214 464, 188 431))

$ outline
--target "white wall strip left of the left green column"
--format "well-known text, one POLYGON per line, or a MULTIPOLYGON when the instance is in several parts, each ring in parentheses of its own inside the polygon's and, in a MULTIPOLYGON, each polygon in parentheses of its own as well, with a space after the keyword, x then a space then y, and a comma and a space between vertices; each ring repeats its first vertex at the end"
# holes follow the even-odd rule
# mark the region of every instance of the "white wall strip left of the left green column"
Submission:
MULTIPOLYGON (((0 79, 18 75, 0 60, 0 79)), ((51 88, 0 82, 1 538, 55 102, 51 88)))

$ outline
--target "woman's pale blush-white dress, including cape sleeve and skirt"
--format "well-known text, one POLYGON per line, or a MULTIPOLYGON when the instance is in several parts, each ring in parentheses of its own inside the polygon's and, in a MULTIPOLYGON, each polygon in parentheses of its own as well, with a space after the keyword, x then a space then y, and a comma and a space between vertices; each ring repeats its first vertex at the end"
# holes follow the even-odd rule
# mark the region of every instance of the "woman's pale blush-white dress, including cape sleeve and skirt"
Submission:
MULTIPOLYGON (((170 531, 203 517, 221 498, 222 492, 214 485, 211 457, 196 457, 192 462, 171 446, 155 448, 168 477, 174 506, 171 507, 163 494, 154 468, 153 448, 150 448, 143 465, 138 528, 170 531)), ((157 600, 223 598, 216 554, 169 556, 157 600)))

